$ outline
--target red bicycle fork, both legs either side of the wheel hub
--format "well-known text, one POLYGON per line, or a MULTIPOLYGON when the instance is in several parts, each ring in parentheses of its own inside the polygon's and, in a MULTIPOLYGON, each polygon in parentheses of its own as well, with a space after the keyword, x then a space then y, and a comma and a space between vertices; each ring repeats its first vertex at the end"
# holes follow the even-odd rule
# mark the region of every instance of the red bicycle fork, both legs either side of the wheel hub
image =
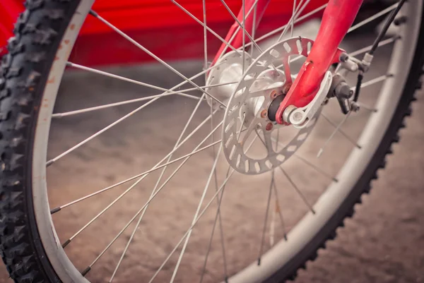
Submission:
MULTIPOLYGON (((249 13, 254 4, 257 5, 255 23, 253 13, 249 13, 245 18, 246 32, 252 34, 253 28, 259 25, 261 16, 264 14, 269 1, 270 0, 245 1, 245 16, 249 13)), ((300 3, 302 3, 302 1, 300 1, 300 3)), ((329 70, 331 64, 340 61, 339 56, 343 50, 339 49, 338 46, 341 44, 348 29, 351 28, 353 20, 355 20, 362 3, 363 0, 329 0, 324 10, 318 35, 314 41, 311 52, 302 65, 293 85, 291 85, 290 90, 288 90, 284 100, 278 107, 276 114, 276 121, 278 124, 286 124, 286 122, 283 121, 283 112, 286 107, 289 105, 298 108, 305 107, 314 99, 326 71, 329 70)), ((238 13, 237 19, 242 23, 242 9, 238 13)), ((243 35, 243 30, 236 22, 230 28, 225 40, 229 42, 233 37, 232 46, 240 48, 242 47, 243 35)), ((245 42, 248 42, 248 40, 249 38, 245 35, 245 42)), ((222 44, 213 64, 216 63, 219 55, 225 52, 226 49, 227 46, 222 44)))

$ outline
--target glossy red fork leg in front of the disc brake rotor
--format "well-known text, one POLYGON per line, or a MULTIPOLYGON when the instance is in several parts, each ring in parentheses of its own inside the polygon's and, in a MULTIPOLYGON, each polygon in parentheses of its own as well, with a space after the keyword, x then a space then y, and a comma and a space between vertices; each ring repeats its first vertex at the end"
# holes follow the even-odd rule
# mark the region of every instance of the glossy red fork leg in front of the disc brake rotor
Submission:
POLYGON ((338 61, 338 46, 351 28, 363 0, 330 0, 324 11, 317 39, 312 46, 292 87, 276 114, 278 124, 283 124, 283 112, 289 105, 305 107, 317 94, 319 85, 331 64, 338 61))

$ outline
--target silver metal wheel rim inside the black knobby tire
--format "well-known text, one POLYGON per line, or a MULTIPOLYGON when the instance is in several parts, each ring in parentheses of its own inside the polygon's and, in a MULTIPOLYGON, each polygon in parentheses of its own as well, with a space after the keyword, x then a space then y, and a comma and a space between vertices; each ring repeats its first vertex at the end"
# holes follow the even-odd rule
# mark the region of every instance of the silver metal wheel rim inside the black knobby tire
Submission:
MULTIPOLYGON (((35 217, 47 257, 62 282, 88 282, 88 280, 73 266, 64 252, 64 249, 61 247, 61 243, 54 229, 47 197, 45 167, 47 162, 47 140, 54 101, 56 99, 61 77, 64 73, 66 61, 93 2, 94 0, 81 1, 81 4, 78 6, 79 13, 75 13, 69 24, 74 24, 77 28, 73 30, 68 29, 65 32, 61 43, 65 48, 57 52, 59 60, 54 61, 49 73, 49 78, 54 76, 56 78, 56 83, 49 83, 46 85, 43 101, 46 102, 47 107, 40 108, 35 131, 32 169, 35 217), (65 44, 65 41, 69 43, 65 44)), ((422 6, 423 3, 421 1, 408 1, 401 10, 401 13, 407 16, 408 21, 399 28, 402 40, 397 40, 394 43, 391 54, 388 73, 394 74, 394 76, 384 80, 376 104, 376 108, 379 109, 379 111, 372 113, 370 119, 368 119, 363 133, 361 133, 358 139, 358 144, 361 146, 361 149, 357 147, 353 148, 343 168, 338 172, 337 179, 339 181, 337 183, 331 183, 317 203, 314 204, 313 207, 316 213, 307 213, 307 215, 298 222, 296 227, 290 231, 288 241, 279 241, 276 243, 271 250, 262 255, 260 266, 258 266, 257 263, 252 263, 252 265, 249 265, 244 270, 230 277, 230 282, 261 282, 273 275, 281 266, 293 258, 305 246, 305 243, 309 242, 310 239, 317 234, 317 231, 319 231, 328 219, 334 215, 334 212, 339 205, 341 205, 341 202, 346 198, 348 193, 350 193, 351 188, 353 188, 356 181, 358 181, 359 177, 363 174, 363 170, 377 150, 389 126, 391 120, 389 118, 393 116, 396 105, 401 97, 403 86, 412 64, 413 53, 415 52, 415 50, 410 47, 416 46, 416 41, 418 40, 418 34, 420 32, 419 26, 422 6), (399 62, 402 63, 399 64, 399 62), (381 95, 382 93, 390 93, 391 95, 381 95), (372 140, 372 142, 370 142, 370 140, 372 140)))

